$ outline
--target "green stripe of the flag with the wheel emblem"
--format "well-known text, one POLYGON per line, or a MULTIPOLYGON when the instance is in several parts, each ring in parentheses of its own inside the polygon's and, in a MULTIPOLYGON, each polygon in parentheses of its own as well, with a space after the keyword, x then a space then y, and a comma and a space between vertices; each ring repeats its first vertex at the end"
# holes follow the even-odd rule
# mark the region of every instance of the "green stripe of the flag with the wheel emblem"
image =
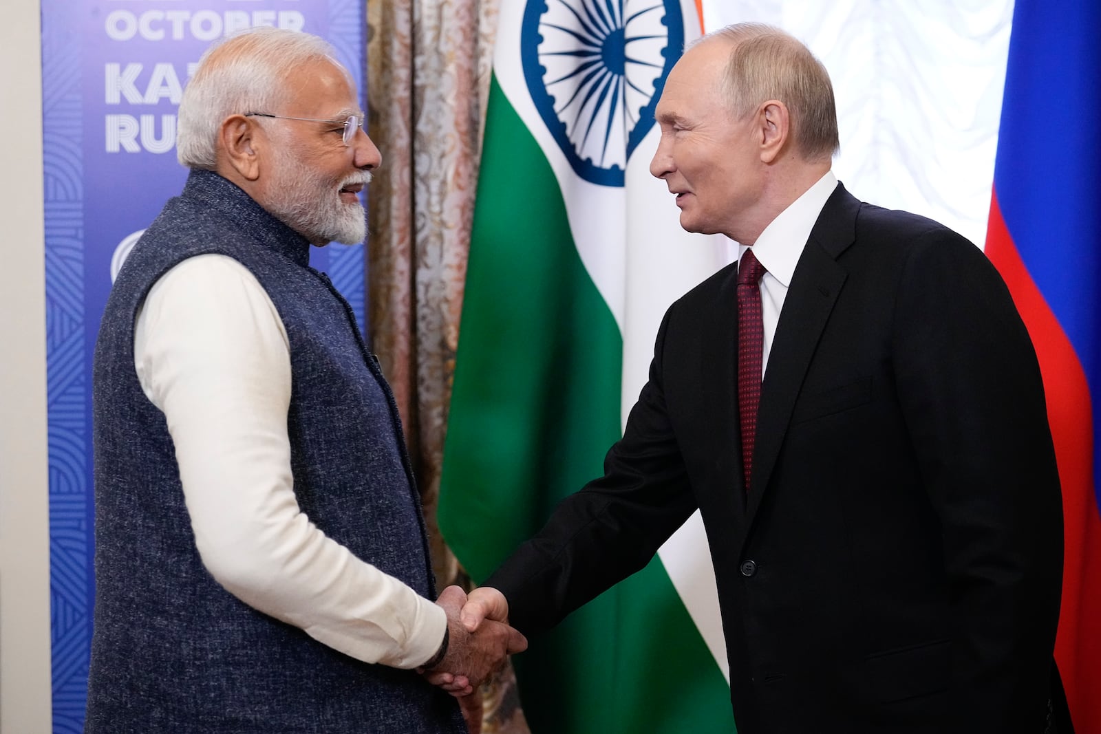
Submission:
MULTIPOLYGON (((620 437, 623 349, 557 179, 495 78, 487 114, 439 502, 475 580, 601 472, 620 437)), ((515 664, 533 734, 734 728, 726 680, 656 558, 515 664)))

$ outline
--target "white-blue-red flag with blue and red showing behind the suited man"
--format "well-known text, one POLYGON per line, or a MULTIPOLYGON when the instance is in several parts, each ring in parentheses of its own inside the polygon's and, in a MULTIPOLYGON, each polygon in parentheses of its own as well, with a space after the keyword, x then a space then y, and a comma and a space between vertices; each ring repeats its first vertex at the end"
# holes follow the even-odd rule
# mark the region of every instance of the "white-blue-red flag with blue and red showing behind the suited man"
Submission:
POLYGON ((1066 523, 1055 656, 1101 733, 1101 3, 1017 0, 986 254, 1039 358, 1066 523))

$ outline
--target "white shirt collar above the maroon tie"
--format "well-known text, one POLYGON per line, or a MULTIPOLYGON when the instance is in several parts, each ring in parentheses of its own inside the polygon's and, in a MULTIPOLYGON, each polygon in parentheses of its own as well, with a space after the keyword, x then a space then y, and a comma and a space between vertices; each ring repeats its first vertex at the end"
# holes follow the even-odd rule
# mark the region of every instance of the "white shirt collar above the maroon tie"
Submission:
MULTIPOLYGON (((810 230, 835 188, 837 176, 832 171, 827 171, 803 196, 781 211, 753 244, 753 254, 757 261, 785 288, 792 285, 792 274, 795 273, 804 245, 810 239, 810 230)), ((749 245, 739 245, 739 260, 748 249, 749 245)))

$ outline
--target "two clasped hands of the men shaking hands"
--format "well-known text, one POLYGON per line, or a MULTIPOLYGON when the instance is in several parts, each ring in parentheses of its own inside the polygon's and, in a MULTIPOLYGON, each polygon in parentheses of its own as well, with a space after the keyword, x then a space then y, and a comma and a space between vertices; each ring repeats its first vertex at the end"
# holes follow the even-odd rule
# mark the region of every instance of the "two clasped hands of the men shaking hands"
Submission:
POLYGON ((447 651, 419 672, 451 695, 469 695, 508 656, 527 649, 527 638, 509 626, 509 602, 497 589, 482 587, 468 596, 448 587, 436 603, 447 612, 447 651))

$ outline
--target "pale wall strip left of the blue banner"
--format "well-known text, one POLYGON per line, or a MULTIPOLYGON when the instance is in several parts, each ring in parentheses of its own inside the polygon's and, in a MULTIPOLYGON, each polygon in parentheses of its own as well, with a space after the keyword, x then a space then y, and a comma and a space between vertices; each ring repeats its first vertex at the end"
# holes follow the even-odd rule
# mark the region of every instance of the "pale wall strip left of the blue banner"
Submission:
POLYGON ((46 469, 42 50, 39 0, 0 23, 0 732, 46 734, 46 469))

